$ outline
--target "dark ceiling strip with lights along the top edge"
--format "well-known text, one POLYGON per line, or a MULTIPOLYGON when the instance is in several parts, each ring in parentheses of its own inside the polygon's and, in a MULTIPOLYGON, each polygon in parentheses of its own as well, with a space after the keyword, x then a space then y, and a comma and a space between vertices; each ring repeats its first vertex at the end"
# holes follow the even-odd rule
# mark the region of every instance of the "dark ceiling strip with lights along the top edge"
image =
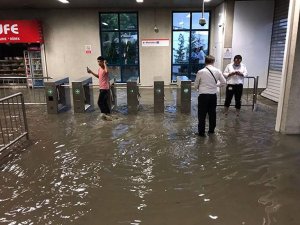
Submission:
MULTIPOLYGON (((214 7, 224 0, 211 0, 205 6, 214 7)), ((62 4, 58 0, 0 0, 0 9, 7 8, 202 8, 202 0, 69 0, 62 4)))

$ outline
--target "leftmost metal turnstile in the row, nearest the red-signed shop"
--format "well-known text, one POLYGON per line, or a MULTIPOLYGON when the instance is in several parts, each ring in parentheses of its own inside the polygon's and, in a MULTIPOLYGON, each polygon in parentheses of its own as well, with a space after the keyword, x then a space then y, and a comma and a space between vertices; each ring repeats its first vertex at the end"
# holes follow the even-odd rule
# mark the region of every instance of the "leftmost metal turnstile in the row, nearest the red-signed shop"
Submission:
POLYGON ((44 85, 49 114, 57 114, 71 108, 69 77, 46 81, 44 85))

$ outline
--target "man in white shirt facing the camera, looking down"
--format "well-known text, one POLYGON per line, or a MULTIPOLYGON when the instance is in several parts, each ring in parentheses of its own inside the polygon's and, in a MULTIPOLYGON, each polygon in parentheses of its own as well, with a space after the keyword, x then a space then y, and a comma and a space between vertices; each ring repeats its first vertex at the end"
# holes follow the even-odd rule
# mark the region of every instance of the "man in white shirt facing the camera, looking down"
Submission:
POLYGON ((235 98, 236 115, 237 116, 240 115, 244 77, 248 75, 246 66, 241 62, 242 62, 242 56, 240 55, 234 56, 233 63, 228 64, 223 73, 224 77, 227 79, 226 98, 224 104, 225 115, 228 114, 228 109, 233 95, 235 98))

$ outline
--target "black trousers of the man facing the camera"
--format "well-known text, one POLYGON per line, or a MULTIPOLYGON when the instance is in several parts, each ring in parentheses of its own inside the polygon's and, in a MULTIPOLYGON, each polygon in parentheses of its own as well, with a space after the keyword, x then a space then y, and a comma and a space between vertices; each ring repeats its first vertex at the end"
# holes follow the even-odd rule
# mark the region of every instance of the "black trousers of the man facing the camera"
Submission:
POLYGON ((242 84, 228 84, 226 87, 226 98, 225 98, 225 107, 229 107, 232 97, 235 98, 235 108, 241 108, 241 98, 243 94, 243 85, 242 84))

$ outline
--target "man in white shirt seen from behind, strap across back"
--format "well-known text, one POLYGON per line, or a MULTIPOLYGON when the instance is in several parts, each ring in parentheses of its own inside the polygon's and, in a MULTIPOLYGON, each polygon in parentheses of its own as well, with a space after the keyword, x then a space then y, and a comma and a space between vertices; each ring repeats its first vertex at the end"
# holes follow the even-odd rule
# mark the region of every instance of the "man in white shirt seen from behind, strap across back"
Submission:
POLYGON ((198 135, 205 136, 206 114, 209 117, 208 133, 213 134, 216 127, 217 87, 226 84, 222 72, 214 67, 215 58, 205 57, 205 68, 199 70, 195 80, 198 96, 198 135), (218 84, 219 81, 219 84, 218 84))

